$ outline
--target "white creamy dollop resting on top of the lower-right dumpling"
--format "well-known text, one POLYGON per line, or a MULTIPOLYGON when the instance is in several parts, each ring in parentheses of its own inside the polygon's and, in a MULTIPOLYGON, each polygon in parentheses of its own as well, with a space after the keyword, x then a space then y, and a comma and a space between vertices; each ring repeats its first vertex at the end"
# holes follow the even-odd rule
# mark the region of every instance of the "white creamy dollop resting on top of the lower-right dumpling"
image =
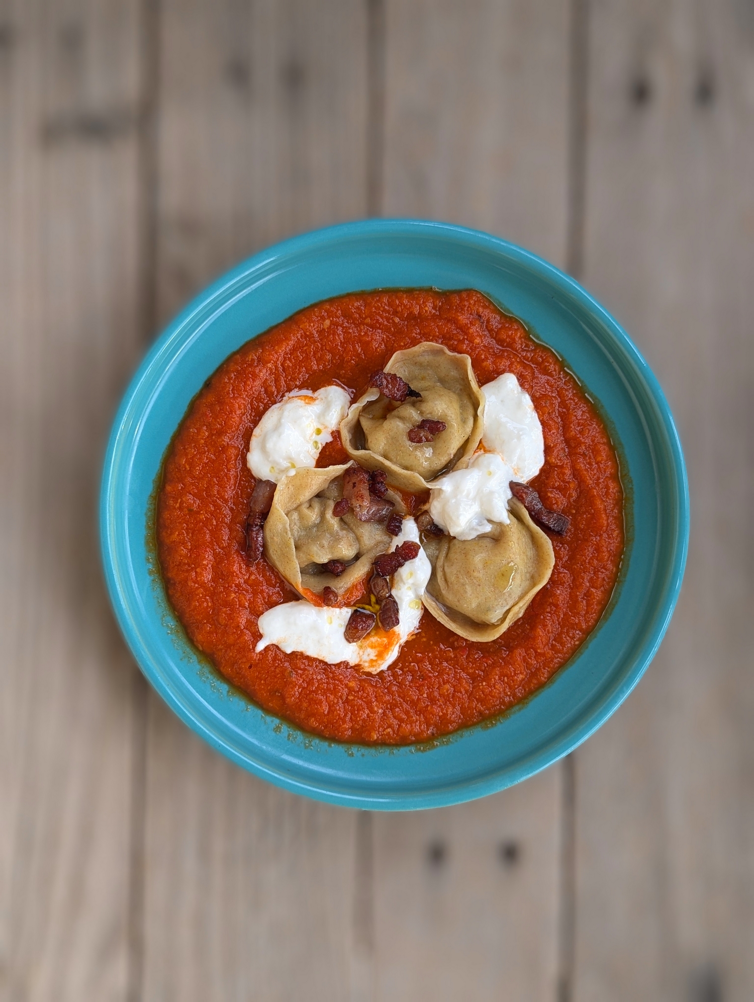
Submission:
POLYGON ((509 485, 515 479, 498 453, 478 452, 465 470, 454 470, 433 484, 430 514, 457 539, 476 539, 492 529, 490 522, 508 524, 509 485))

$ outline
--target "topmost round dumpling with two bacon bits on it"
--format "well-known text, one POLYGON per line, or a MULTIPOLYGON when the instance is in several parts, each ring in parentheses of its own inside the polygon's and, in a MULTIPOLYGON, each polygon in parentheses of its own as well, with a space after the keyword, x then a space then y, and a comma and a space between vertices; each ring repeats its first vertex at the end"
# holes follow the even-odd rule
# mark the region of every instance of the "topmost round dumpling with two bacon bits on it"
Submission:
POLYGON ((400 376, 421 398, 397 404, 369 390, 340 424, 343 447, 365 469, 384 470, 397 487, 425 491, 474 453, 482 438, 484 397, 469 356, 431 342, 397 352, 385 372, 400 376), (423 421, 446 428, 431 441, 411 441, 409 432, 423 421))

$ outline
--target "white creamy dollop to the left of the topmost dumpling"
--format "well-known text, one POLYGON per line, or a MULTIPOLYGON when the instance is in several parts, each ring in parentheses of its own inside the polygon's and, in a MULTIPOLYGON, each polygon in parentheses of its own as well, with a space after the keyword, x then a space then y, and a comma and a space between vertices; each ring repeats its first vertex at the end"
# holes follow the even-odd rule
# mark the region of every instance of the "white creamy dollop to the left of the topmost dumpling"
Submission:
POLYGON ((278 483, 290 470, 315 466, 349 406, 350 397, 339 386, 289 393, 265 411, 251 433, 249 470, 259 480, 278 483))

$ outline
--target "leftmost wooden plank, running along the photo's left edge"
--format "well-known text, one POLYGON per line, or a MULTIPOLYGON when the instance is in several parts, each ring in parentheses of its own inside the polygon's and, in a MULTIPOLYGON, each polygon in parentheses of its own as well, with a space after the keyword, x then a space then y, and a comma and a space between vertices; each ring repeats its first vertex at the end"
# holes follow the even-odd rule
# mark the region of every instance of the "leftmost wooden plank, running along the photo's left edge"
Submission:
POLYGON ((96 497, 140 351, 137 3, 0 4, 0 997, 125 999, 134 668, 96 497))

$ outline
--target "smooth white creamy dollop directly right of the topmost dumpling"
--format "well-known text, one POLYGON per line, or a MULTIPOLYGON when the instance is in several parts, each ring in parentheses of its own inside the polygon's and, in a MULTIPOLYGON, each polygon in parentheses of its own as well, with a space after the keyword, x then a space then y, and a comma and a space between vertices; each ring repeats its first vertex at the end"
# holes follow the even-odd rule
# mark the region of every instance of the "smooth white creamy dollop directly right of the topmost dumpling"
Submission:
POLYGON ((512 480, 528 483, 545 463, 542 425, 532 398, 513 373, 505 373, 482 387, 485 398, 485 432, 482 442, 497 452, 513 470, 512 480))

